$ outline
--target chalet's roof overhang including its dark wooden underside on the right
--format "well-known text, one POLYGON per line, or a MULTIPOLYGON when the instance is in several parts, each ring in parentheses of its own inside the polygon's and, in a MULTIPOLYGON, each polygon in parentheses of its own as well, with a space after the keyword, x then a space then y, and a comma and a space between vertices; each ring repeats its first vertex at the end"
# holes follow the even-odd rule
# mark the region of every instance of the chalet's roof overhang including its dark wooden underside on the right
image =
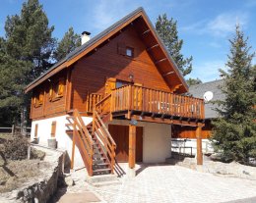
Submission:
POLYGON ((169 56, 156 29, 154 28, 154 25, 152 25, 143 8, 138 8, 114 25, 109 26, 107 29, 97 34, 87 43, 75 49, 43 75, 34 79, 26 87, 25 92, 27 93, 31 91, 34 87, 42 83, 47 78, 54 76, 61 70, 70 68, 75 62, 96 50, 97 46, 107 41, 110 37, 114 36, 128 25, 134 25, 136 27, 139 35, 148 47, 147 50, 149 54, 152 56, 156 66, 159 68, 161 76, 163 76, 164 80, 169 86, 171 86, 171 91, 176 91, 178 93, 187 92, 188 85, 185 79, 178 71, 178 68, 171 56, 169 56))

